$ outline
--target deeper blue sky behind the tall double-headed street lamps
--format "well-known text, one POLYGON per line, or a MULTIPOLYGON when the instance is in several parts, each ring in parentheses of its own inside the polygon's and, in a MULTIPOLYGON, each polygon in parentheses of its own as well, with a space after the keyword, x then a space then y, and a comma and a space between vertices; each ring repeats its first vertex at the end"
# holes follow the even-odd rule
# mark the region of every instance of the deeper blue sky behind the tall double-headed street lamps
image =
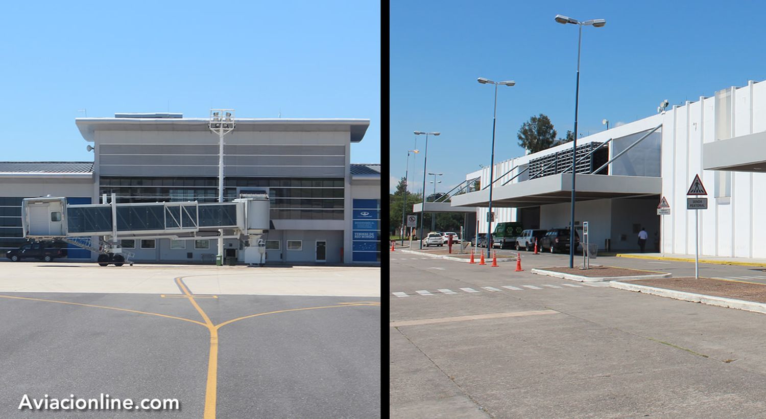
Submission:
MULTIPOLYGON (((391 4, 391 191, 404 176, 414 130, 429 139, 428 172, 444 172, 437 191, 489 165, 493 87, 499 87, 495 161, 523 155, 516 133, 545 113, 558 136, 573 129, 578 28, 582 33, 580 111, 583 135, 656 113, 716 90, 766 79, 766 14, 761 2, 403 2, 391 4)), ((410 159, 411 191, 420 191, 424 137, 410 159)), ((428 185, 427 192, 433 191, 428 185)))

